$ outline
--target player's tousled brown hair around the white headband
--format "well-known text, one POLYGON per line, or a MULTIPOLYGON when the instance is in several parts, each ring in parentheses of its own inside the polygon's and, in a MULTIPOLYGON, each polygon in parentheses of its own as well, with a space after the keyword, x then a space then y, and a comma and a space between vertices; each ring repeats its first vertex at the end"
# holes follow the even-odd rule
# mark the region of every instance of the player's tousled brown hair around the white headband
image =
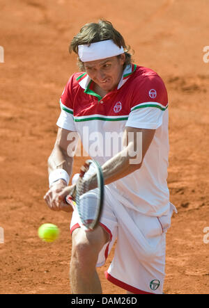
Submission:
MULTIPOLYGON (((114 29, 114 26, 111 24, 111 22, 108 22, 107 20, 100 20, 98 24, 91 22, 90 24, 85 24, 82 29, 75 35, 75 37, 72 39, 72 42, 70 43, 69 51, 70 53, 72 51, 75 52, 75 54, 78 54, 78 45, 82 44, 91 44, 95 42, 100 42, 102 40, 113 40, 114 43, 121 48, 121 46, 125 50, 125 63, 123 65, 123 70, 125 69, 126 65, 129 65, 132 63, 132 55, 128 52, 130 51, 130 47, 126 46, 125 40, 121 33, 119 33, 116 29, 114 29)), ((121 55, 117 56, 118 58, 121 57, 121 55)), ((77 65, 81 71, 85 70, 84 63, 82 60, 77 58, 77 65)))

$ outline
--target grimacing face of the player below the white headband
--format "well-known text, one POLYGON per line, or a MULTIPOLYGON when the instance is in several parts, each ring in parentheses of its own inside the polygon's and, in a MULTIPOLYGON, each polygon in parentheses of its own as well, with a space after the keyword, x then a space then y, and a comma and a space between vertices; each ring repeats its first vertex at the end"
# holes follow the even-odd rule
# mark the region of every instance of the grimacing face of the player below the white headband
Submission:
POLYGON ((120 58, 117 56, 85 62, 84 66, 88 76, 105 92, 110 92, 118 86, 123 74, 125 54, 120 58))

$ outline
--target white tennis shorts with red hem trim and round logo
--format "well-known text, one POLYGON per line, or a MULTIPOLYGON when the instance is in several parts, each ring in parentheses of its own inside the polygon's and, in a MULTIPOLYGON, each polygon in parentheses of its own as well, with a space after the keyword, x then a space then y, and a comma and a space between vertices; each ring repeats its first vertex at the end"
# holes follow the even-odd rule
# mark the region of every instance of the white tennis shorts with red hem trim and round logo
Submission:
MULTIPOLYGON (((93 191, 88 192, 89 202, 95 202, 93 191)), ((162 294, 164 284, 166 232, 171 224, 175 206, 162 218, 145 216, 118 202, 105 186, 104 209, 100 225, 109 233, 98 256, 97 266, 104 265, 111 248, 115 245, 106 278, 117 286, 135 294, 162 294)), ((70 232, 79 227, 76 211, 72 214, 70 232)))

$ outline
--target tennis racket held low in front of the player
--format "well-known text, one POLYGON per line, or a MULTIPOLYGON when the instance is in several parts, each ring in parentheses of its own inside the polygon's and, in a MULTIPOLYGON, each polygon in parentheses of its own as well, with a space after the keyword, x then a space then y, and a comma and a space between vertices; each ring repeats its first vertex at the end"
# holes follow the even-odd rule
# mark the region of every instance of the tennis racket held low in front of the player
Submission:
POLYGON ((79 214, 83 229, 93 230, 97 227, 104 201, 104 178, 102 168, 97 161, 89 159, 82 165, 75 190, 72 195, 65 197, 65 200, 79 214), (89 200, 88 198, 88 194, 86 193, 88 192, 88 179, 84 179, 84 175, 90 168, 90 165, 93 165, 92 167, 97 176, 97 188, 94 190, 93 200, 89 200))

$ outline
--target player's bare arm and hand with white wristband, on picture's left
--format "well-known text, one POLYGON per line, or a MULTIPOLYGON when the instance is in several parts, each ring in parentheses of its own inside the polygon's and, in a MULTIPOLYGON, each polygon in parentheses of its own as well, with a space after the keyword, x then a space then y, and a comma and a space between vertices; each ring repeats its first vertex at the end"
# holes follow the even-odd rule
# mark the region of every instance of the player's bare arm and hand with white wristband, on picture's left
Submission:
MULTIPOLYGON (((60 169, 65 170, 69 177, 72 175, 73 152, 69 153, 71 147, 68 146, 70 143, 75 142, 75 140, 68 140, 69 133, 70 131, 66 129, 59 128, 58 130, 54 149, 48 159, 49 174, 56 169, 60 169)), ((72 147, 72 151, 73 150, 74 148, 72 147)), ((72 211, 71 206, 68 206, 63 202, 57 202, 57 196, 67 185, 68 183, 64 179, 54 181, 49 188, 49 191, 45 194, 44 200, 52 211, 72 211)))

